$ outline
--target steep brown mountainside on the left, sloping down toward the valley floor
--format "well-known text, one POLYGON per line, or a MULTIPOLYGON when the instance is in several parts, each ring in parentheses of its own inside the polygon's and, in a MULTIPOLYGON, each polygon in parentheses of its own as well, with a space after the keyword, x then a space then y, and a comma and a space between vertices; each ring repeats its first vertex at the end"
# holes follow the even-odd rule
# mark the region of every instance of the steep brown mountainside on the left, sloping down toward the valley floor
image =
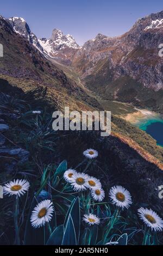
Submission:
POLYGON ((97 106, 96 100, 91 100, 74 80, 46 58, 47 54, 41 51, 37 42, 22 18, 8 20, 0 16, 0 44, 3 45, 0 78, 24 91, 46 87, 47 95, 52 102, 57 101, 60 108, 90 109, 88 101, 91 106, 92 102, 97 106))

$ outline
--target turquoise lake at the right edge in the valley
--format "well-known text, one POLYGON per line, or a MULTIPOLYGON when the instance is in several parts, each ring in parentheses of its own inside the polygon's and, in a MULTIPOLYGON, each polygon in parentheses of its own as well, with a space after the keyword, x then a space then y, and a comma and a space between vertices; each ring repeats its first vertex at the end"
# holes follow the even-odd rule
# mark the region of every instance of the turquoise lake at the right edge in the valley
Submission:
POLYGON ((159 116, 148 116, 137 121, 136 126, 141 130, 146 131, 157 142, 158 145, 163 147, 163 119, 159 116))

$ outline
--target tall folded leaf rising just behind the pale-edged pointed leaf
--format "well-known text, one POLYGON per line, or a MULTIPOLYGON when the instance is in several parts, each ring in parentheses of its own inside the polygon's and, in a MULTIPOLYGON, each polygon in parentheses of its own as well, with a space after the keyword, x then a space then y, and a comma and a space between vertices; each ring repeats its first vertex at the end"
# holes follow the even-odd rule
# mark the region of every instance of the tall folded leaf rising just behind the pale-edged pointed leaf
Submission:
POLYGON ((72 217, 74 230, 77 237, 77 244, 79 242, 79 235, 80 235, 80 200, 79 197, 74 199, 70 205, 70 208, 67 211, 67 215, 65 217, 64 227, 67 225, 68 218, 72 217))

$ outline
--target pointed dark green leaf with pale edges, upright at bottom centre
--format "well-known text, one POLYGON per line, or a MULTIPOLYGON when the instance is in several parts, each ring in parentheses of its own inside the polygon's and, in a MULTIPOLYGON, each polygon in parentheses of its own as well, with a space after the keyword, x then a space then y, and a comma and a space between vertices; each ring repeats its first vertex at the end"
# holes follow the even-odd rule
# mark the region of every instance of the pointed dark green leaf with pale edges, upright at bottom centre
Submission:
POLYGON ((69 215, 67 223, 66 223, 65 233, 64 233, 63 240, 62 240, 62 245, 77 245, 76 231, 74 228, 74 224, 73 224, 71 215, 69 215))

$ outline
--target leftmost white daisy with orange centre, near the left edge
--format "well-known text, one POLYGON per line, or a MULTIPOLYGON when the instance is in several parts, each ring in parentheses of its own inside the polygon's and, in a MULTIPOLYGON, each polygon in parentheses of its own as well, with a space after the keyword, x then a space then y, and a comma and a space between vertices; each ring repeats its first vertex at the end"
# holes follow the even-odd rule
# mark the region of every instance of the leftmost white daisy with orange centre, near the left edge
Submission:
POLYGON ((29 182, 27 180, 14 180, 10 181, 9 183, 5 184, 3 187, 3 193, 9 194, 9 196, 17 196, 20 197, 21 195, 25 194, 26 191, 29 189, 29 182))

